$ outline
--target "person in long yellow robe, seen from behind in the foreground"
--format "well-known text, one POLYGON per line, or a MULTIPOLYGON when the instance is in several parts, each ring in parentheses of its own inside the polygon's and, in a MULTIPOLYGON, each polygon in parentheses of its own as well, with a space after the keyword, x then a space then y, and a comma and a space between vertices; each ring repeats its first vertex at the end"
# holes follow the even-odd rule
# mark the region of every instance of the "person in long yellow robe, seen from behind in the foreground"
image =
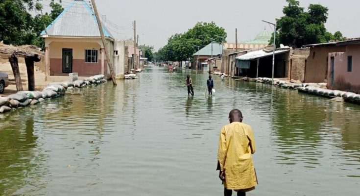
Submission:
POLYGON ((224 184, 224 196, 231 196, 232 190, 238 196, 255 189, 258 184, 251 154, 255 153, 254 134, 250 127, 242 123, 240 110, 229 113, 230 124, 221 128, 217 169, 224 184))

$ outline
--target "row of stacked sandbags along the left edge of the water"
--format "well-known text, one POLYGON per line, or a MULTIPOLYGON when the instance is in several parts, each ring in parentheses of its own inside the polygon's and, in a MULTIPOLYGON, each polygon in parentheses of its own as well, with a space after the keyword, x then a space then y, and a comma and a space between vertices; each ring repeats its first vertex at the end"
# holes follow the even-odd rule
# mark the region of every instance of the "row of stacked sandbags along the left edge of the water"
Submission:
POLYGON ((84 80, 76 80, 73 82, 49 83, 42 91, 19 91, 7 97, 0 97, 0 113, 9 112, 28 105, 36 105, 44 102, 46 99, 64 96, 67 90, 97 85, 106 81, 104 75, 95 75, 84 80))

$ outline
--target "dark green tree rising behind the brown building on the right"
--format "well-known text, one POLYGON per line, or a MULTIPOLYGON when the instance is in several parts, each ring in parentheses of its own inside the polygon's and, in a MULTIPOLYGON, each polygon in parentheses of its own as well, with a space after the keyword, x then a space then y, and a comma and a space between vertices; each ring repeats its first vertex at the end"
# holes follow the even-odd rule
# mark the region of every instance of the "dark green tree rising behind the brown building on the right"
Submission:
MULTIPOLYGON (((325 28, 328 19, 327 7, 320 4, 310 4, 308 11, 300 7, 299 1, 287 0, 288 6, 285 6, 283 13, 285 16, 277 20, 276 45, 284 44, 293 48, 300 48, 307 44, 317 44, 332 41, 335 38, 333 34, 325 28)), ((339 32, 340 33, 340 32, 339 32)), ((340 33, 341 34, 341 33, 340 33)), ((343 39, 342 35, 339 40, 343 39)), ((270 40, 270 44, 273 39, 270 40)))

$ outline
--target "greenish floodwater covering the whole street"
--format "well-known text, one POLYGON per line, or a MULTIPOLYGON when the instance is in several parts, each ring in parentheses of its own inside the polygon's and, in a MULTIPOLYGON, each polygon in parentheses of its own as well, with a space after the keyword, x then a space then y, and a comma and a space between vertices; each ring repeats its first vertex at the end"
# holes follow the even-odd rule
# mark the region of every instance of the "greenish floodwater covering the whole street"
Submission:
POLYGON ((249 196, 355 196, 360 106, 260 83, 149 67, 0 116, 1 196, 220 196, 220 127, 239 108, 259 179, 249 196))

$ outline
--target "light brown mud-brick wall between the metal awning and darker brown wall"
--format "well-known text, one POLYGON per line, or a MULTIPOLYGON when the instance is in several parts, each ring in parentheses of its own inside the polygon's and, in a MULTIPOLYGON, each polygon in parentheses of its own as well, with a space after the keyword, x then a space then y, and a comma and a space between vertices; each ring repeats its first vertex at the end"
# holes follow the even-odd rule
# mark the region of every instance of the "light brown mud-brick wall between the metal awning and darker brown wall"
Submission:
POLYGON ((309 57, 310 48, 293 49, 289 62, 288 79, 304 81, 305 61, 309 57))

